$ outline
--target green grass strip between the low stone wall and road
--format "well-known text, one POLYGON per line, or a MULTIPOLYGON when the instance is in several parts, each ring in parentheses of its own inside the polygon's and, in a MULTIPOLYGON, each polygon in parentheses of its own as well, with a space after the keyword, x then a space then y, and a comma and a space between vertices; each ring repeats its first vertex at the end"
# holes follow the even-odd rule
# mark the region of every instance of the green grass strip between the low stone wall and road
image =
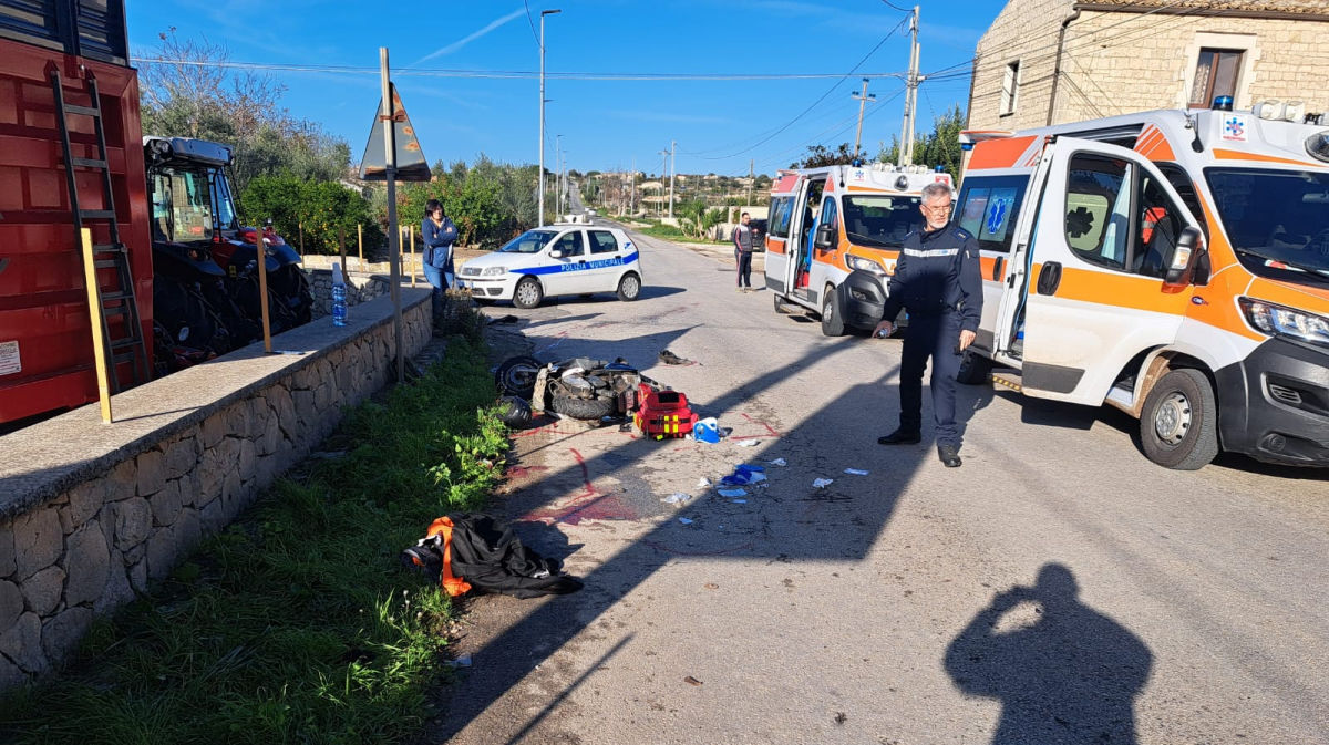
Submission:
POLYGON ((348 412, 170 579, 97 621, 66 672, 0 701, 0 741, 360 744, 419 734, 452 608, 397 554, 478 507, 508 448, 481 347, 348 412))

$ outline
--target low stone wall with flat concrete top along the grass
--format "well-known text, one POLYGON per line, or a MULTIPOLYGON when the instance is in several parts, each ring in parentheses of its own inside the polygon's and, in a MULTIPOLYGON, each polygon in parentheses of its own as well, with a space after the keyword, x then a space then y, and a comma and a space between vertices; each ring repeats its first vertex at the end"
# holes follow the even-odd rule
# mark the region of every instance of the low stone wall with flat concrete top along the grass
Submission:
MULTIPOLYGON (((431 337, 403 290, 405 353, 431 337)), ((0 437, 0 688, 56 668, 93 618, 165 576, 393 374, 387 297, 0 437)))

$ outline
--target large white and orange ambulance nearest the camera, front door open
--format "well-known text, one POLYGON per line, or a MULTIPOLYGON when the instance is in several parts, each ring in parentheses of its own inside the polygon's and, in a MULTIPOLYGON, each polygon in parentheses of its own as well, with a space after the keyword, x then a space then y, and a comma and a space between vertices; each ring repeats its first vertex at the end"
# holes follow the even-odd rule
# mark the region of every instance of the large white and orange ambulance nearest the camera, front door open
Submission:
POLYGON ((1263 102, 961 141, 956 222, 983 268, 965 382, 995 361, 1029 396, 1116 406, 1174 469, 1220 449, 1329 465, 1329 116, 1263 102))

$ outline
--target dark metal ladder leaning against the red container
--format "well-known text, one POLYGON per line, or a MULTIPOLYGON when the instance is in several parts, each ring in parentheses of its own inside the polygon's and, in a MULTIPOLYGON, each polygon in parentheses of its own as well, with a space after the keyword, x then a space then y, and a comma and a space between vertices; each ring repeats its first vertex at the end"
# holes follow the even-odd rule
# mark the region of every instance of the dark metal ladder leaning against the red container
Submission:
MULTIPOLYGON (((93 244, 93 266, 97 270, 116 270, 116 286, 110 290, 97 287, 97 317, 101 319, 101 337, 105 340, 104 355, 110 371, 112 390, 120 393, 118 368, 125 363, 132 364, 133 385, 148 382, 152 369, 148 360, 148 347, 144 344, 144 327, 138 317, 138 300, 134 296, 134 278, 129 271, 129 251, 120 240, 120 226, 116 223, 116 201, 110 186, 110 163, 106 159, 106 134, 101 122, 101 96, 97 92, 97 78, 90 70, 82 69, 88 81, 88 94, 92 98, 90 106, 74 106, 65 104, 64 84, 60 80, 60 70, 51 69, 51 88, 56 96, 56 122, 60 125, 60 143, 64 146, 65 179, 69 182, 69 207, 74 218, 74 240, 80 242, 85 222, 105 223, 109 228, 109 243, 93 244), (89 117, 97 133, 97 157, 76 158, 69 145, 69 116, 89 117), (84 210, 78 203, 78 179, 74 178, 74 169, 92 169, 101 173, 101 190, 104 210, 84 210), (120 336, 112 337, 112 324, 109 319, 118 316, 120 336)), ((128 154, 126 154, 128 157, 128 154)), ((81 254, 80 244, 80 254, 81 254)))

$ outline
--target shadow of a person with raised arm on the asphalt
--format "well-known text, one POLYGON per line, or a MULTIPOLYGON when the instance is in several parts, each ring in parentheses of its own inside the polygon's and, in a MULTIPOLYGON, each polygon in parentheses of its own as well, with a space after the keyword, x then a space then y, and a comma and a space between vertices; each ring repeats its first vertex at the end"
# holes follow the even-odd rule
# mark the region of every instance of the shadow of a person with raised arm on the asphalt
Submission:
POLYGON ((1138 742, 1135 697, 1152 655, 1078 594, 1069 568, 1045 564, 1034 587, 998 592, 946 649, 960 691, 1002 703, 993 745, 1138 742))

